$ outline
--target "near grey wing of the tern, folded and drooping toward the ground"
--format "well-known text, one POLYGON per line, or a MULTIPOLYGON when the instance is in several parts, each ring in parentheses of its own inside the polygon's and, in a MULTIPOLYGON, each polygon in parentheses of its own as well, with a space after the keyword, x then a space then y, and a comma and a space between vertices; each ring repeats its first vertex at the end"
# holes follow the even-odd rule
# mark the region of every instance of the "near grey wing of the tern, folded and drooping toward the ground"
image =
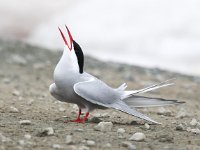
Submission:
POLYGON ((144 114, 131 109, 126 103, 120 99, 120 93, 113 90, 111 87, 101 82, 98 79, 93 78, 89 81, 79 82, 74 85, 74 91, 82 98, 88 100, 91 103, 98 104, 108 108, 114 108, 133 115, 135 117, 158 123, 144 114))

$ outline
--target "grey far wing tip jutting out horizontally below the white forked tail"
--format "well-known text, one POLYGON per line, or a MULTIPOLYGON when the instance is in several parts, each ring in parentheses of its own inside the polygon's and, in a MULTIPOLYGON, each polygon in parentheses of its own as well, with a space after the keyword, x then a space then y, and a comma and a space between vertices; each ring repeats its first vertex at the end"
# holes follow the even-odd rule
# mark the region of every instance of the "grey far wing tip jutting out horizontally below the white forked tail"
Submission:
POLYGON ((167 100, 163 98, 151 98, 144 96, 132 96, 131 98, 124 99, 123 101, 131 108, 167 106, 185 103, 177 100, 167 100))

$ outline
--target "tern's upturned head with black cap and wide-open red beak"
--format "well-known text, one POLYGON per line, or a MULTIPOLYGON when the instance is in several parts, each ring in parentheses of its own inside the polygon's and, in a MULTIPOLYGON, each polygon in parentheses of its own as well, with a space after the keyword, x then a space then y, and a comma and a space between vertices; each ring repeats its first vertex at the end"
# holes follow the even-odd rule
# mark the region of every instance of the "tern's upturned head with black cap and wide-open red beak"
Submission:
MULTIPOLYGON (((65 47, 64 47, 64 55, 67 56, 67 58, 71 59, 72 62, 70 63, 73 63, 73 64, 77 64, 78 63, 78 67, 79 67, 79 73, 83 73, 83 66, 84 66, 84 55, 83 55, 83 51, 81 49, 81 47, 79 46, 78 43, 76 43, 74 40, 73 40, 73 37, 68 29, 67 26, 66 27, 66 30, 67 30, 67 34, 69 36, 69 42, 67 41, 65 35, 63 34, 62 30, 60 28, 59 31, 60 31, 60 34, 61 34, 61 37, 65 43, 65 47)), ((67 61, 67 60, 66 60, 67 61)))

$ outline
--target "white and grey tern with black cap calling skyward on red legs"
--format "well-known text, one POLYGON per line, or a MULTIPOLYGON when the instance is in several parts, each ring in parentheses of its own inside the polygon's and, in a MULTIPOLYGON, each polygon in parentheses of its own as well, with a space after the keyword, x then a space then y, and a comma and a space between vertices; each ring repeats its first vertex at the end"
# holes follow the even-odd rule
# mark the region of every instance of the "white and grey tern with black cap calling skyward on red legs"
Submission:
POLYGON ((77 119, 71 121, 84 123, 92 110, 113 108, 158 124, 158 122, 136 111, 135 108, 182 103, 176 100, 164 100, 137 95, 172 85, 172 83, 169 83, 170 80, 140 90, 126 91, 127 85, 125 83, 118 88, 112 88, 91 74, 84 72, 84 55, 82 49, 73 40, 67 26, 66 29, 69 36, 69 43, 59 28, 65 46, 62 57, 54 70, 55 83, 50 85, 49 91, 59 101, 78 105, 79 113, 77 119), (80 118, 82 110, 86 110, 86 113, 83 118, 80 118))

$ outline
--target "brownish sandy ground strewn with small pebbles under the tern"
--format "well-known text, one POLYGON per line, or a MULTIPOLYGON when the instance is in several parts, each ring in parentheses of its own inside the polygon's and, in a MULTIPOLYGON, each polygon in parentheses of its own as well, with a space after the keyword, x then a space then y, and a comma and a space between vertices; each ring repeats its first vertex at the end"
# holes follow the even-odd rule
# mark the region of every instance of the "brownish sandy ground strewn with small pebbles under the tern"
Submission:
MULTIPOLYGON (((116 110, 95 110, 84 124, 64 123, 76 117, 76 107, 61 103, 48 92, 53 69, 60 52, 51 52, 17 42, 0 41, 0 149, 128 149, 123 142, 137 149, 200 149, 200 79, 158 69, 145 69, 115 63, 103 63, 86 57, 85 70, 113 87, 126 82, 128 89, 138 89, 155 82, 176 77, 176 85, 160 89, 149 96, 178 99, 185 104, 139 111, 162 123, 144 127, 144 122, 116 110), (66 116, 66 118, 63 118, 66 116), (190 124, 192 118, 197 123, 190 124), (29 120, 28 125, 20 124, 29 120), (94 130, 99 121, 110 121, 108 132, 94 130), (177 130, 179 124, 183 125, 177 130), (53 135, 43 130, 52 127, 53 135), (117 130, 124 128, 119 136, 117 130), (135 132, 146 139, 130 141, 135 132), (195 133, 196 132, 196 133, 195 133), (66 143, 66 136, 72 143, 66 143), (93 146, 87 140, 95 141, 93 146)), ((129 147, 130 149, 130 147, 129 147)))

